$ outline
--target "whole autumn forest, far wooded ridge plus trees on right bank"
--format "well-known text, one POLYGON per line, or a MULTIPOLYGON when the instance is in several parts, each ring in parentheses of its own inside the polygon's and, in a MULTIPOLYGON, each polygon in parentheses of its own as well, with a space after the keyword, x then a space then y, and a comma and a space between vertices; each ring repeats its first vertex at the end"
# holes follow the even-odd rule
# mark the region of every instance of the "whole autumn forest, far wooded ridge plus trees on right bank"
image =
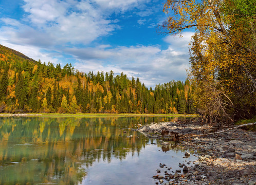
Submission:
MULTIPOLYGON (((205 123, 256 115, 256 1, 167 0, 162 34, 194 31, 185 82, 146 87, 113 71, 84 73, 0 47, 2 113, 194 114, 205 123), (170 13, 172 12, 172 13, 170 13)), ((171 80, 171 79, 170 79, 171 80)))

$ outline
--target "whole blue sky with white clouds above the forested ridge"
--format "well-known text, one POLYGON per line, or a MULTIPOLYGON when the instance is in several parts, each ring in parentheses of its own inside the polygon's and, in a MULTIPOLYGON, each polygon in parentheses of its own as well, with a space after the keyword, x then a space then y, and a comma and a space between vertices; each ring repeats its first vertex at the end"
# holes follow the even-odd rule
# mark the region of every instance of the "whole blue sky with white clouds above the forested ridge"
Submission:
POLYGON ((188 43, 161 35, 164 0, 0 0, 0 44, 80 71, 124 72, 145 85, 186 79, 188 43))

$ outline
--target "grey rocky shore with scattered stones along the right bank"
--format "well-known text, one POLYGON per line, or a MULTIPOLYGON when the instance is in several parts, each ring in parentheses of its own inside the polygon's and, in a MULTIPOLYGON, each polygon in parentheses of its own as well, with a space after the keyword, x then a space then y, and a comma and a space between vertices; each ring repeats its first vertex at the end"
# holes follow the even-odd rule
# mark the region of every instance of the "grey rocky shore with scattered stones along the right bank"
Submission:
MULTIPOLYGON (((168 122, 152 123, 138 131, 150 138, 162 138, 162 144, 167 144, 173 133, 202 134, 210 127, 168 122)), ((239 128, 218 135, 187 138, 177 145, 187 150, 184 158, 193 150, 198 160, 180 163, 181 170, 174 173, 160 163, 160 169, 152 177, 156 184, 256 184, 256 132, 239 128)))

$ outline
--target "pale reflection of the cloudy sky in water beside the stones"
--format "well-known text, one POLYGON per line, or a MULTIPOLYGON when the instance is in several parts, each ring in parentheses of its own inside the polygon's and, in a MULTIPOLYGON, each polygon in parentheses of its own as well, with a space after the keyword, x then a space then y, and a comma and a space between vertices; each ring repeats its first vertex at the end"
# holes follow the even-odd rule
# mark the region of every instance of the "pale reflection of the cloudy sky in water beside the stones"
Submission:
POLYGON ((147 145, 140 151, 139 156, 137 153, 134 155, 129 153, 123 160, 113 156, 110 163, 100 159, 92 167, 86 169, 87 176, 82 184, 154 184, 156 180, 152 177, 158 174, 156 169, 160 169, 160 175, 164 176, 164 171, 168 171, 166 167, 172 168, 168 173, 175 172, 176 169, 182 171, 178 167, 179 162, 187 164, 185 160, 195 160, 194 156, 183 157, 184 152, 172 150, 162 152, 157 145, 147 145), (160 168, 159 163, 164 163, 167 166, 160 168))

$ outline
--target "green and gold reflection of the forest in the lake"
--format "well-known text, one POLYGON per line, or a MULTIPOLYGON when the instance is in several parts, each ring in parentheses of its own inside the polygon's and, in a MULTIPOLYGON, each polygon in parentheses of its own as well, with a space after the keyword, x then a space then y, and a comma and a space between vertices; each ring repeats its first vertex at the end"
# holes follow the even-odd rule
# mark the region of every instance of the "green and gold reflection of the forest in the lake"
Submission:
POLYGON ((1 117, 0 184, 82 183, 86 169, 93 171, 100 161, 127 161, 151 143, 131 128, 173 119, 186 118, 1 117))

